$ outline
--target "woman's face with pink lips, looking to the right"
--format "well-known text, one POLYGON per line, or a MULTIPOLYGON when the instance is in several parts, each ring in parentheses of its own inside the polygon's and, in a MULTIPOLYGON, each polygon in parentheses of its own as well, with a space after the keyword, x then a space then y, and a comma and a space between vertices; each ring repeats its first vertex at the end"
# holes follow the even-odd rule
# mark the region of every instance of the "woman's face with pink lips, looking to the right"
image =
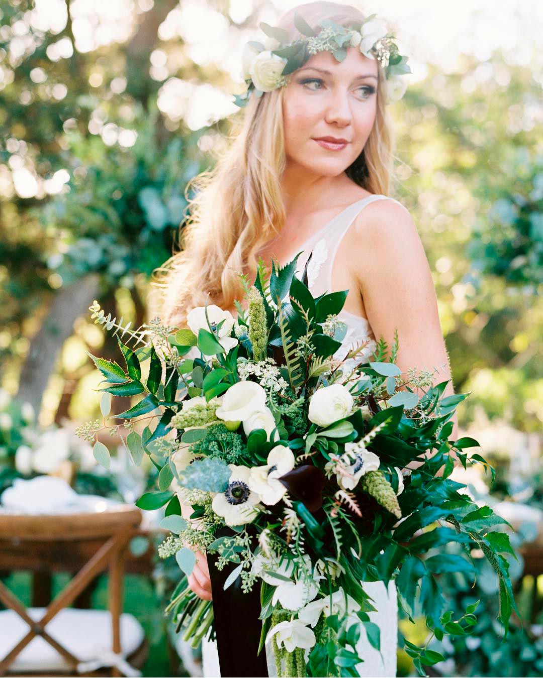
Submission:
POLYGON ((377 109, 377 61, 348 47, 341 62, 331 52, 314 54, 294 71, 283 97, 287 165, 337 176, 362 153, 377 109), (316 139, 346 141, 337 148, 316 139))

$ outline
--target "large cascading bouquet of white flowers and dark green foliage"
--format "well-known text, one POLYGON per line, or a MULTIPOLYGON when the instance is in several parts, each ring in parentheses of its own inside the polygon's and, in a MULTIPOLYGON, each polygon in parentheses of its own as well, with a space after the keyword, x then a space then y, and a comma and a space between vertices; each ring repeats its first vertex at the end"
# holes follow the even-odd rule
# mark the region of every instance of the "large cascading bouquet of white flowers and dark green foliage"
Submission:
MULTIPOLYGON (((202 551, 212 582, 220 571, 222 589, 237 582, 246 595, 258 593, 255 652, 269 643, 278 675, 358 675, 360 635, 379 650, 364 581, 396 580, 405 610, 424 614, 438 640, 470 633, 476 603, 453 618, 441 578, 473 578, 474 557, 486 557, 499 579, 507 632, 516 606, 503 554, 514 553, 495 530, 506 521, 449 478, 453 450, 464 466, 493 473, 479 454, 464 452, 476 440, 449 439, 455 407, 468 394, 443 397, 447 381, 432 385, 430 372, 415 369, 402 374, 397 334, 390 355, 381 338, 367 361, 364 343, 335 359, 348 291, 314 298, 305 274, 295 277, 296 262, 272 265, 269 276, 259 262, 252 286, 240 275, 247 307, 236 302, 237 320, 208 305, 188 314, 185 329, 155 319, 132 332, 96 302, 91 307, 96 322, 128 338, 119 339, 126 367, 94 361, 103 392, 143 396, 115 418, 130 430, 134 463, 147 454, 159 470, 157 491, 137 505, 166 506, 162 525, 172 534, 160 555, 174 555, 184 573, 168 607, 178 630, 194 644, 212 633, 212 603, 187 586, 202 551), (192 507, 189 517, 181 504, 192 507), (463 555, 451 553, 454 542, 463 555)), ((97 442, 98 461, 108 454, 97 442)), ((421 675, 443 660, 411 643, 406 651, 421 675)))

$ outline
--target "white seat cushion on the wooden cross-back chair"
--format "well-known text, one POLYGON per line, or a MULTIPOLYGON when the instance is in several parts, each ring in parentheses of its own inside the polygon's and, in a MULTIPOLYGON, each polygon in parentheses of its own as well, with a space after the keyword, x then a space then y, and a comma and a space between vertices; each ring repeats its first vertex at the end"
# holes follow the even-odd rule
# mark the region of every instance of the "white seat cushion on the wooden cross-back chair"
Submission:
MULTIPOLYGON (((29 607, 26 612, 39 620, 45 609, 29 607)), ((143 628, 131 614, 121 614, 121 654, 129 656, 143 643, 143 628)), ((75 610, 67 608, 52 618, 45 630, 81 662, 99 659, 111 651, 111 615, 107 610, 75 610)), ((29 626, 13 610, 0 611, 0 658, 3 658, 26 635, 29 626)), ((67 673, 67 660, 43 638, 35 637, 11 664, 8 673, 67 673)))

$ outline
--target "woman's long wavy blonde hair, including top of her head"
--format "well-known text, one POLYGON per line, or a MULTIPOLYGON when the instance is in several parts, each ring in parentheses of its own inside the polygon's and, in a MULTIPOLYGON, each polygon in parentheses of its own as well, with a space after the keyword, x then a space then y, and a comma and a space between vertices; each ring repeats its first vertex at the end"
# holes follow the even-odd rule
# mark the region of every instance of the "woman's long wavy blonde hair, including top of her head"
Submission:
MULTIPOLYGON (((298 5, 278 21, 291 41, 301 36, 294 26, 295 11, 315 26, 323 19, 347 26, 364 20, 352 5, 316 1, 298 5)), ((393 139, 385 107, 385 74, 377 62, 375 123, 356 161, 345 173, 369 193, 388 195, 393 177, 393 139)), ((282 100, 284 87, 250 97, 237 134, 212 170, 187 185, 189 216, 181 225, 181 251, 153 277, 149 302, 164 323, 186 326, 195 306, 217 304, 233 310, 243 287, 238 273, 254 279, 258 253, 284 226, 281 177, 286 165, 282 100)))

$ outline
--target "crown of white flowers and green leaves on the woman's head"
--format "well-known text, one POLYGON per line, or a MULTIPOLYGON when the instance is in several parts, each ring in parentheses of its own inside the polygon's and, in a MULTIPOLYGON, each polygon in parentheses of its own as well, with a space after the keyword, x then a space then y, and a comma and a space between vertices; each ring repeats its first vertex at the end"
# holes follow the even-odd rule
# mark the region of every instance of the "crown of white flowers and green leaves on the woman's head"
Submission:
POLYGON ((295 12, 294 25, 305 38, 288 43, 288 31, 278 26, 269 26, 261 22, 259 28, 278 45, 275 49, 266 47, 257 41, 249 41, 242 54, 242 75, 248 83, 243 94, 234 95, 234 103, 243 107, 248 103, 252 92, 261 97, 288 83, 288 75, 301 68, 313 54, 328 50, 337 61, 347 56, 347 47, 359 47, 360 52, 370 59, 379 60, 385 71, 387 81, 387 102, 398 101, 405 94, 407 83, 401 75, 411 73, 407 65, 407 56, 398 52, 393 42, 394 35, 388 33, 386 26, 375 20, 371 14, 362 22, 350 26, 339 26, 324 19, 318 23, 320 30, 312 28, 305 19, 295 12))

